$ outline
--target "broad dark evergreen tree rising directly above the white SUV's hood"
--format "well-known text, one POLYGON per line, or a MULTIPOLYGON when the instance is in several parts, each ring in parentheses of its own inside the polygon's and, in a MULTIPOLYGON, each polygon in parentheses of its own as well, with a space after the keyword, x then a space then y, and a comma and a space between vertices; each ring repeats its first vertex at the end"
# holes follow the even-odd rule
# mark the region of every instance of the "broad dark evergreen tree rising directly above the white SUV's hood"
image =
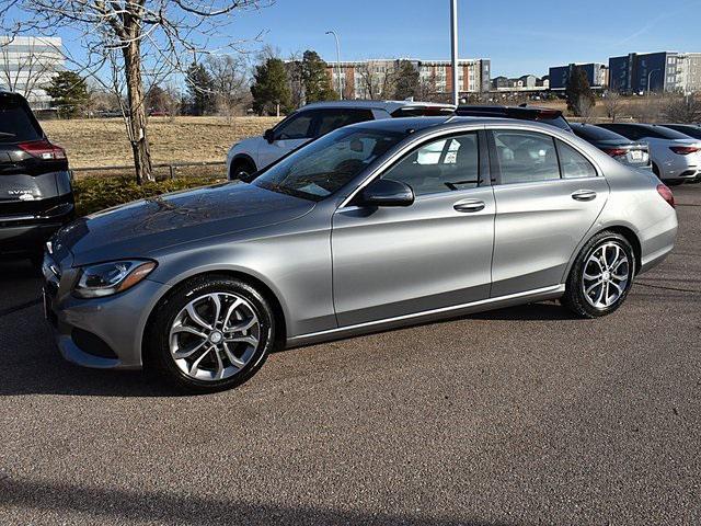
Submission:
POLYGON ((253 110, 258 115, 275 115, 278 104, 280 113, 294 111, 285 62, 279 58, 267 58, 257 65, 251 94, 253 110))

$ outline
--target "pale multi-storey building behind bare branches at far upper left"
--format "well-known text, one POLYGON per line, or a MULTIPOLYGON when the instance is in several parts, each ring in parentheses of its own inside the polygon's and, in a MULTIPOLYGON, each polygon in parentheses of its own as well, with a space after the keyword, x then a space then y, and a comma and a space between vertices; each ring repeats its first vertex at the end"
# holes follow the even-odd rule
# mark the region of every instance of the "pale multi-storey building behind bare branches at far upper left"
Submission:
POLYGON ((60 38, 0 36, 0 87, 25 96, 33 110, 50 107, 44 88, 62 69, 60 38))

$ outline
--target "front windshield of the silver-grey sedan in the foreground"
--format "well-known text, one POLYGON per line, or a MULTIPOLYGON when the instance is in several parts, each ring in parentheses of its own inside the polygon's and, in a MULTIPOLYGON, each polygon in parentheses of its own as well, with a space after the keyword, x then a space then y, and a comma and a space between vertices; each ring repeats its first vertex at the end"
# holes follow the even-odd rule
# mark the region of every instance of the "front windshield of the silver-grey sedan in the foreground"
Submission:
POLYGON ((345 186, 406 133, 341 128, 310 142, 257 176, 253 184, 321 201, 345 186))

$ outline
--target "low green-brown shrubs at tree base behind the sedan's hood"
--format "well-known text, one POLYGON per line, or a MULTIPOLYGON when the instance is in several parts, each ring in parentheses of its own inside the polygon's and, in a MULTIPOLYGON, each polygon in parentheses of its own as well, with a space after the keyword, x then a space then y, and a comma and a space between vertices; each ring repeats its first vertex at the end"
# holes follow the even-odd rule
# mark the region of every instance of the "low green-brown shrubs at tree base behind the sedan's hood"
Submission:
POLYGON ((154 195, 221 182, 216 178, 179 178, 136 184, 134 178, 87 178, 73 181, 76 211, 87 216, 94 211, 154 195))

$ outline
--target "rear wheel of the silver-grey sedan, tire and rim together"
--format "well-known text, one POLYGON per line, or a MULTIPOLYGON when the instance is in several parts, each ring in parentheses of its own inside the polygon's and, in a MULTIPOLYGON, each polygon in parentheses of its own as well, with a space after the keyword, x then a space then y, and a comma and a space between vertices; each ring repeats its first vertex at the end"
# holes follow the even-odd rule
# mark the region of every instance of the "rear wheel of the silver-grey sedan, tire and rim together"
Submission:
POLYGON ((584 318, 598 318, 618 309, 633 284, 635 254, 616 232, 591 238, 570 271, 562 302, 584 318))

